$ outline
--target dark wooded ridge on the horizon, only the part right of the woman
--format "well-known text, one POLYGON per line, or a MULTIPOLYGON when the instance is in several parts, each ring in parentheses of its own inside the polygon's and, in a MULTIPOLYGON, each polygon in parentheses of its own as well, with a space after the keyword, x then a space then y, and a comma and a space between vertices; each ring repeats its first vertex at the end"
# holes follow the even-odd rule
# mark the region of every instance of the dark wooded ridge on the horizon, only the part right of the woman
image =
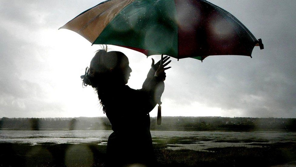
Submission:
POLYGON ((296 118, 251 117, 162 117, 162 124, 151 119, 151 130, 185 131, 296 131, 296 118))

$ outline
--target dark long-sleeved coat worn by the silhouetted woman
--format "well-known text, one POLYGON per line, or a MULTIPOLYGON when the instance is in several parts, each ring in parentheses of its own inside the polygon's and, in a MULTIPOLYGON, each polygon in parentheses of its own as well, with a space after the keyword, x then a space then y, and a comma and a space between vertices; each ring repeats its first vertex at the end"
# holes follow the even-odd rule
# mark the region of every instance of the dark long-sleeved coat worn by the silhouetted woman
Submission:
POLYGON ((117 87, 105 105, 106 116, 112 124, 107 156, 109 166, 141 163, 152 166, 153 154, 150 134, 150 115, 164 90, 164 82, 154 77, 150 69, 142 89, 127 85, 117 87))

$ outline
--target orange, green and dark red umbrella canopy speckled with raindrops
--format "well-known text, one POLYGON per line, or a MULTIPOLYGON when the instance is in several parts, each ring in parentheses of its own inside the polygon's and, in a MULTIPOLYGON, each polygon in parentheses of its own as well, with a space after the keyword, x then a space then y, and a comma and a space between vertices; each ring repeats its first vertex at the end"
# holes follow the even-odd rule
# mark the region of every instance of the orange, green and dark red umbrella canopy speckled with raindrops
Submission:
POLYGON ((210 55, 250 56, 262 41, 233 15, 205 0, 108 0, 61 28, 92 44, 112 44, 147 56, 203 60, 210 55))

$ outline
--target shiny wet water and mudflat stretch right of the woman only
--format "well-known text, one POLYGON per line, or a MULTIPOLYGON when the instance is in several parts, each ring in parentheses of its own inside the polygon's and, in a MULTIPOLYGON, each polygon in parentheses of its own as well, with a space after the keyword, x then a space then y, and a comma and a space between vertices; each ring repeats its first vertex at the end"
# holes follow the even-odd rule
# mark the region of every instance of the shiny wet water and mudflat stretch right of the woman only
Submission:
POLYGON ((261 147, 262 144, 296 142, 295 132, 151 131, 151 134, 156 143, 166 143, 173 150, 261 147))

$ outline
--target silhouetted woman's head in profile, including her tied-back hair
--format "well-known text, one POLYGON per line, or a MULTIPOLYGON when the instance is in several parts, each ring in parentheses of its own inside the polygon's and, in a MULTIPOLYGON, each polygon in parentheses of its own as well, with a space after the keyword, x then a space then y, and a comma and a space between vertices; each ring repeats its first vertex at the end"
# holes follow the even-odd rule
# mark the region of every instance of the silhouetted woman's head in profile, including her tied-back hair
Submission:
POLYGON ((119 51, 98 50, 85 74, 81 75, 83 85, 91 85, 98 92, 105 112, 105 104, 110 91, 127 84, 132 69, 125 54, 119 51))

